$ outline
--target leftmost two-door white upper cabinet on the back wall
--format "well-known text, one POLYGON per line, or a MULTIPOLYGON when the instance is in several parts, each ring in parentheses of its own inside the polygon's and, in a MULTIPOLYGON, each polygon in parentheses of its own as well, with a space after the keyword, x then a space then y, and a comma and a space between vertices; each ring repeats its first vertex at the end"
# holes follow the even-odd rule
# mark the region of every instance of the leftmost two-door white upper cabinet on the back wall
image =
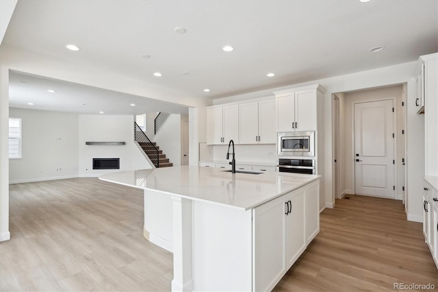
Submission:
POLYGON ((207 144, 239 143, 239 106, 207 108, 207 144))

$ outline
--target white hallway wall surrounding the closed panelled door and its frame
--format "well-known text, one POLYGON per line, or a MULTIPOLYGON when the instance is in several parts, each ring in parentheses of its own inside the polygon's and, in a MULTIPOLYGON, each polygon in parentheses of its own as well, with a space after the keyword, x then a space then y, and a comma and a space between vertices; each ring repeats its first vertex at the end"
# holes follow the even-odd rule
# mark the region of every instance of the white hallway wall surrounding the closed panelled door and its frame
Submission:
MULTIPOLYGON (((353 128, 355 121, 352 113, 352 105, 360 101, 376 101, 383 99, 396 98, 394 108, 396 108, 396 125, 394 125, 394 133, 396 134, 397 156, 395 157, 398 169, 402 165, 402 157, 404 157, 404 146, 402 137, 402 86, 388 86, 383 88, 372 88, 368 90, 359 90, 344 95, 344 109, 340 112, 344 121, 343 139, 341 140, 342 149, 342 169, 341 176, 344 178, 344 184, 341 185, 343 193, 355 193, 355 162, 353 151, 355 145, 353 143, 353 128)), ((399 171, 400 172, 400 171, 399 171)), ((402 199, 402 184, 401 178, 396 177, 396 199, 402 199)))

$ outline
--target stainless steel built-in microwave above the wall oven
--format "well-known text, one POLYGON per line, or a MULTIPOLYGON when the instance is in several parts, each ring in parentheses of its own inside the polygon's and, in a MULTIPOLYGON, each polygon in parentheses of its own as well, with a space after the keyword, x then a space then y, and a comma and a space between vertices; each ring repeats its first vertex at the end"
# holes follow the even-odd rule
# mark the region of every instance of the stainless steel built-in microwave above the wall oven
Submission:
POLYGON ((315 156, 315 132, 279 132, 278 156, 315 156))

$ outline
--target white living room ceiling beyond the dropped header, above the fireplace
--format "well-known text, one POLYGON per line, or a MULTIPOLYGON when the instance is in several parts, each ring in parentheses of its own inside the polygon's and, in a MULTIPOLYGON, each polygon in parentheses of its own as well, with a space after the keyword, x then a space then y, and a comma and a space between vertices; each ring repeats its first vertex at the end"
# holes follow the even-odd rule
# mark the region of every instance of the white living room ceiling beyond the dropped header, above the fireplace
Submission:
POLYGON ((34 110, 55 110, 78 114, 144 114, 171 112, 188 114, 186 106, 170 104, 126 93, 82 84, 10 72, 10 106, 34 110), (55 90, 50 93, 47 90, 55 90), (29 105, 31 103, 33 105, 29 105), (135 104, 136 106, 131 106, 135 104))

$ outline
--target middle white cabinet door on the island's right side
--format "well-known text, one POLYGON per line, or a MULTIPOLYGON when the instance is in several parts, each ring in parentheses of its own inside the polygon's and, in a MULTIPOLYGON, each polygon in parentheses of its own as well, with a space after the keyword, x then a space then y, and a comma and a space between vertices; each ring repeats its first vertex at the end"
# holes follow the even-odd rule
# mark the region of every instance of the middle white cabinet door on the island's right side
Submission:
POLYGON ((306 249, 305 191, 300 188, 286 196, 290 208, 286 215, 286 269, 289 269, 306 249))

